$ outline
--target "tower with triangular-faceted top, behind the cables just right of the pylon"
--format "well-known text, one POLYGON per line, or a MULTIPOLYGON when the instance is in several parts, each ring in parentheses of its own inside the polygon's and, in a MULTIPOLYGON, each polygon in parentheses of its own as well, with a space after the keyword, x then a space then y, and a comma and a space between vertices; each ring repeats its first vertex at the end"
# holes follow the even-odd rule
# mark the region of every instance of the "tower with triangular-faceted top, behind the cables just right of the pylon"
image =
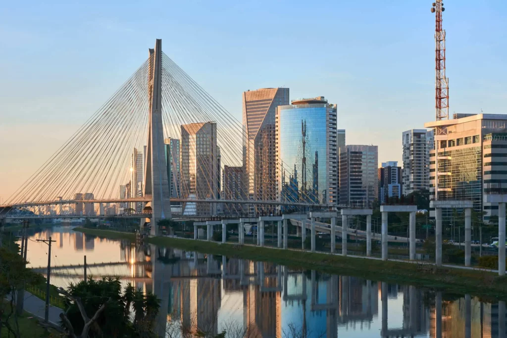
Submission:
MULTIPOLYGON (((181 126, 181 192, 183 198, 218 197, 216 123, 192 123, 181 126)), ((197 203, 198 215, 216 215, 216 203, 197 203)))

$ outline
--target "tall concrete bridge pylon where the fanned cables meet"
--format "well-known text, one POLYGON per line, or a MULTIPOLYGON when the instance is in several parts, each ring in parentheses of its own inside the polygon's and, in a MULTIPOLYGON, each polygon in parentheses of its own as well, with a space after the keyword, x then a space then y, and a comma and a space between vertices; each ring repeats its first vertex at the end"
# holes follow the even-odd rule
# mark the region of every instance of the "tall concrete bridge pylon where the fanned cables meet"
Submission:
POLYGON ((171 218, 169 179, 165 161, 164 128, 162 122, 162 39, 157 39, 155 49, 150 49, 148 72, 147 156, 144 162, 143 196, 151 196, 147 206, 152 208, 151 234, 157 235, 157 222, 171 218))

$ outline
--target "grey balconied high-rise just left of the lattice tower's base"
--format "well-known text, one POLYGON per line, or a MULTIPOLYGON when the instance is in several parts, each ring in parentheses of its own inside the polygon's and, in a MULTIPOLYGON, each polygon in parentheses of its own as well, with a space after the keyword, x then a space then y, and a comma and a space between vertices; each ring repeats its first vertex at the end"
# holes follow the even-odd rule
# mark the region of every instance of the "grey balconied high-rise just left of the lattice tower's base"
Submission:
POLYGON ((433 131, 411 129, 403 132, 402 184, 405 196, 429 189, 429 151, 433 148, 433 131))

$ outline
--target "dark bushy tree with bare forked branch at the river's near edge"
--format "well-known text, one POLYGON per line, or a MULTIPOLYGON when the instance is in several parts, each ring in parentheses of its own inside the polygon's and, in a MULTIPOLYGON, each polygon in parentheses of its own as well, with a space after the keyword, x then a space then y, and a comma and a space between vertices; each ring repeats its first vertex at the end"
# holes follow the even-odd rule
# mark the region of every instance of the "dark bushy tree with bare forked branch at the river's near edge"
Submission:
POLYGON ((70 284, 67 290, 60 288, 59 292, 70 303, 60 318, 71 338, 155 336, 153 325, 160 301, 151 293, 136 290, 130 283, 122 292, 118 278, 98 281, 90 278, 70 284))

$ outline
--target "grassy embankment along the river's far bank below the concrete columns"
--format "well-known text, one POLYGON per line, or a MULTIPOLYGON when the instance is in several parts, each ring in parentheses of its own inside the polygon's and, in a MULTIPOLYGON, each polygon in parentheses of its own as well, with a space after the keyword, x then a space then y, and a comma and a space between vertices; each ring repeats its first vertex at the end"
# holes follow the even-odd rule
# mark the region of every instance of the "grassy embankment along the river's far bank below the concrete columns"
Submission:
MULTIPOLYGON (((135 239, 134 234, 122 234, 107 230, 76 228, 85 233, 108 238, 135 239)), ((311 269, 324 273, 357 276, 396 284, 412 284, 439 288, 453 293, 470 293, 487 297, 507 297, 507 277, 478 270, 436 268, 418 266, 409 262, 381 261, 359 257, 343 257, 328 253, 312 253, 300 250, 222 244, 179 238, 154 237, 149 243, 172 246, 189 251, 221 254, 228 257, 271 261, 291 268, 311 269)))

